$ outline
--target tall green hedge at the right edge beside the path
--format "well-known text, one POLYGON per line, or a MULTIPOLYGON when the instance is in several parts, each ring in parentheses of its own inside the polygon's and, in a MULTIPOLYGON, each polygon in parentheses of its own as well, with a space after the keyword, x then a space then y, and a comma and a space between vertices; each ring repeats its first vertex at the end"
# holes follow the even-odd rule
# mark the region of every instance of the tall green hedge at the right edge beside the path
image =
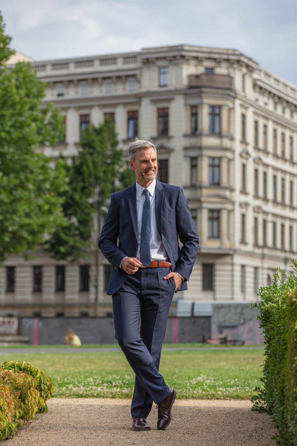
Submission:
MULTIPOLYGON (((292 260, 297 271, 297 262, 292 260)), ((265 360, 252 399, 253 409, 272 416, 278 429, 277 445, 297 446, 297 276, 277 268, 273 284, 258 295, 265 360)))

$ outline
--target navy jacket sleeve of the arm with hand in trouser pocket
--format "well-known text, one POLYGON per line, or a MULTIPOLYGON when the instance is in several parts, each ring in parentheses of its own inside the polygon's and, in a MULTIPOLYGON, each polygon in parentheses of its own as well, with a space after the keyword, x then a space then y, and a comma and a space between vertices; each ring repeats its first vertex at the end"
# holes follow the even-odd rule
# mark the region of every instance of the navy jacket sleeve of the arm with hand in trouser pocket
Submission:
POLYGON ((186 281, 188 281, 196 260, 199 237, 182 188, 179 189, 179 194, 176 200, 175 219, 179 240, 183 244, 179 260, 175 264, 175 273, 179 273, 181 276, 185 277, 186 281))

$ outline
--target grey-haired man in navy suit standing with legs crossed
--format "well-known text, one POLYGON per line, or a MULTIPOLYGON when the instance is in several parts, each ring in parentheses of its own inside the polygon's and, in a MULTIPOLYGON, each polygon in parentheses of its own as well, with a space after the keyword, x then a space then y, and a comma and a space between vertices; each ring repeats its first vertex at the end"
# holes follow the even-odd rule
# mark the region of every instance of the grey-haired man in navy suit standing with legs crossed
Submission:
POLYGON ((111 194, 98 246, 114 267, 107 294, 115 337, 135 372, 132 428, 151 429, 146 417, 155 401, 157 428, 166 429, 176 391, 159 374, 161 348, 173 295, 187 289, 199 239, 183 190, 155 179, 155 146, 136 139, 129 155, 136 183, 111 194))

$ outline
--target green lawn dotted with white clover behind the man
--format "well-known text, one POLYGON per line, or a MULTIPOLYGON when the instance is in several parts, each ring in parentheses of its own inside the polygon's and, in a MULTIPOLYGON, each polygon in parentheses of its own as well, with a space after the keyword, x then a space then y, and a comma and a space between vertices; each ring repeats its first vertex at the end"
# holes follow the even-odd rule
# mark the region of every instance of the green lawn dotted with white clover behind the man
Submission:
MULTIPOLYGON (((171 344, 172 346, 172 344, 171 344)), ((102 346, 103 347, 103 346, 102 346)), ((160 373, 178 398, 251 398, 260 385, 263 350, 163 351, 160 373)), ((131 398, 134 374, 121 351, 0 353, 0 363, 29 361, 55 384, 54 396, 131 398)))

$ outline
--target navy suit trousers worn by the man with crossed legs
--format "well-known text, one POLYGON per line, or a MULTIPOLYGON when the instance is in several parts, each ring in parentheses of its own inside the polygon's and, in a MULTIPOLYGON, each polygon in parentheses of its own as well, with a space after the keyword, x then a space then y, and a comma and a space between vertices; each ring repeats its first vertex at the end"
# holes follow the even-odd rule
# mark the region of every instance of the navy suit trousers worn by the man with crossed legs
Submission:
POLYGON ((146 418, 169 387, 159 374, 168 312, 175 292, 170 268, 139 268, 112 296, 115 337, 135 373, 132 417, 146 418), (140 328, 139 328, 140 326, 140 328))

